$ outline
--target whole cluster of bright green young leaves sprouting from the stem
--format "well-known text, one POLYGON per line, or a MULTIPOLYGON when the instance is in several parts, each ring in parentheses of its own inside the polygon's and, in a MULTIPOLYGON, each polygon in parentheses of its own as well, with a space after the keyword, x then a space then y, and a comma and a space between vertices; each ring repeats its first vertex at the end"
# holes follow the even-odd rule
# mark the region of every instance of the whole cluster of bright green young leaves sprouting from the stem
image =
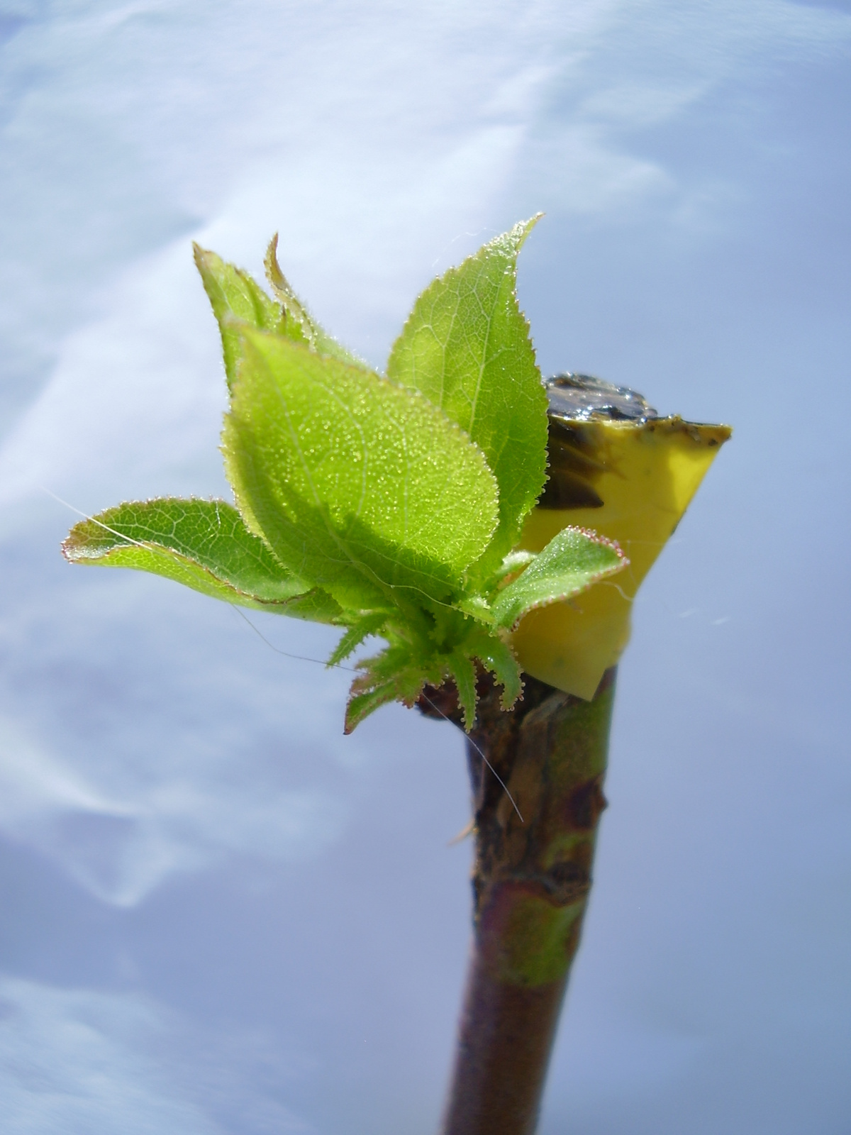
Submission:
POLYGON ((547 397, 515 293, 533 224, 423 292, 386 376, 307 312, 278 267, 277 238, 266 259, 275 299, 196 246, 221 331, 222 452, 236 507, 121 504, 77 524, 66 556, 345 628, 329 665, 384 638, 359 664, 347 732, 448 678, 470 729, 478 666, 511 707, 522 690, 511 630, 625 563, 615 545, 575 528, 537 556, 512 550, 546 479, 547 397))

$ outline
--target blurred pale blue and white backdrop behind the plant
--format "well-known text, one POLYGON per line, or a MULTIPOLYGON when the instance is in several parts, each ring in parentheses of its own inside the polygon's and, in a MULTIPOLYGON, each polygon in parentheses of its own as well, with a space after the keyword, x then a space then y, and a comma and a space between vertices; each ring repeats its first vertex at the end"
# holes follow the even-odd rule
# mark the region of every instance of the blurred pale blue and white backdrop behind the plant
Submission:
POLYGON ((541 1135, 844 1135, 851 5, 0 0, 0 41, 3 1132, 436 1130, 460 735, 344 738, 334 632, 59 541, 227 495, 192 239, 260 274, 278 230, 381 368, 546 210, 542 370, 735 436, 635 605, 541 1135))

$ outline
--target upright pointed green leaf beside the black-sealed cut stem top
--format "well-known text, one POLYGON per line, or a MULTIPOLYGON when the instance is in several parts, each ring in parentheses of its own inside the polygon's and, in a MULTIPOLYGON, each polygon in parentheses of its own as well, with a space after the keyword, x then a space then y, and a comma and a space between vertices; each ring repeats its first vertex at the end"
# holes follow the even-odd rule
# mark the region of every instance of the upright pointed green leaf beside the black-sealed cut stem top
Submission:
POLYGON ((499 485, 499 528, 482 571, 513 547, 546 472, 547 397, 517 305, 516 259, 537 221, 486 244, 414 304, 387 364, 481 446, 499 485))

